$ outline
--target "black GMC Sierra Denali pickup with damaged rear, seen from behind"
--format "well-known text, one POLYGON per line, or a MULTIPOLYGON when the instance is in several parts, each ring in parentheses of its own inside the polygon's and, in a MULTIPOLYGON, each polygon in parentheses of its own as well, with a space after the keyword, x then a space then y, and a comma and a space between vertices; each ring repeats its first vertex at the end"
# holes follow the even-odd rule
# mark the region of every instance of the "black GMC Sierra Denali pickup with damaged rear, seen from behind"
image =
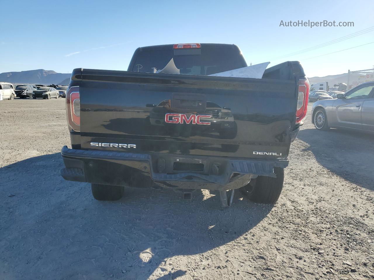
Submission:
POLYGON ((297 61, 261 79, 208 76, 245 66, 235 45, 171 44, 138 48, 128 71, 74 69, 62 177, 91 183, 98 200, 120 199, 128 186, 174 188, 185 199, 209 189, 223 206, 242 188, 275 203, 309 82, 297 61), (171 59, 180 74, 154 73, 171 59))

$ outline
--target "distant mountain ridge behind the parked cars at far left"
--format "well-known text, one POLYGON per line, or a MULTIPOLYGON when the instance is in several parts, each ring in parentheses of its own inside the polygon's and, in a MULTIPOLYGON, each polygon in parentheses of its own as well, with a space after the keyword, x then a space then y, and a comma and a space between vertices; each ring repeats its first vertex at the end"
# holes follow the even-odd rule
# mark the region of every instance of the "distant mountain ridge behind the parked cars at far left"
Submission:
POLYGON ((21 72, 5 72, 0 74, 0 81, 12 84, 59 84, 70 78, 71 74, 57 73, 52 70, 29 70, 21 72))

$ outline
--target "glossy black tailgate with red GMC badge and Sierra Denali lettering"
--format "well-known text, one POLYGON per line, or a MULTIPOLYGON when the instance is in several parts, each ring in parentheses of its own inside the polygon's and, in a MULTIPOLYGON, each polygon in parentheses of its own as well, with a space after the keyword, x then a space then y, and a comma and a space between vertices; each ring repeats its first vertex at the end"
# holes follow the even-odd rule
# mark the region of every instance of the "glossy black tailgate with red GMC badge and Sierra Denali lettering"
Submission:
POLYGON ((82 149, 288 155, 297 81, 93 69, 82 69, 81 78, 82 149))

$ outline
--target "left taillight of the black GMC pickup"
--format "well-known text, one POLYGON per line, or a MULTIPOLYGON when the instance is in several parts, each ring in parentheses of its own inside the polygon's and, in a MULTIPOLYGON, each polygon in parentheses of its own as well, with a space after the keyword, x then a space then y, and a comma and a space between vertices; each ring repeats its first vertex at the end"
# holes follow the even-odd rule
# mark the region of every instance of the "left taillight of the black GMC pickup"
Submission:
POLYGON ((70 87, 66 92, 66 111, 71 128, 75 131, 80 131, 79 87, 70 87))

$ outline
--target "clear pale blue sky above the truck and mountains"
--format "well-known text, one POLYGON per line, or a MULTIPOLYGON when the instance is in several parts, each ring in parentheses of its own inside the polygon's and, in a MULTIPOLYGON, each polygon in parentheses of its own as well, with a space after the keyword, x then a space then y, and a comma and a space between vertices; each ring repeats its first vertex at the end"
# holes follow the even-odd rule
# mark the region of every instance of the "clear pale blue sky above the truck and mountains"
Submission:
POLYGON ((137 47, 175 43, 236 44, 248 65, 298 60, 307 77, 374 68, 374 31, 300 53, 373 27, 374 1, 0 2, 0 73, 127 70, 137 47), (301 20, 354 27, 279 26, 301 20))

